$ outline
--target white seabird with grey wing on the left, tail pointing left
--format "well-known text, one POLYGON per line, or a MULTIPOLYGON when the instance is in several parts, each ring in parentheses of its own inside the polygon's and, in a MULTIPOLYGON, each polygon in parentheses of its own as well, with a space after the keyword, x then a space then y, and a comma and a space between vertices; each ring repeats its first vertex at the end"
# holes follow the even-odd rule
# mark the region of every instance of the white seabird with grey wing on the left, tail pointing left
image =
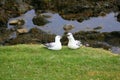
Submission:
POLYGON ((51 50, 61 50, 62 49, 62 44, 60 42, 60 39, 61 39, 61 36, 57 35, 55 37, 55 42, 46 43, 45 46, 48 49, 51 49, 51 50))

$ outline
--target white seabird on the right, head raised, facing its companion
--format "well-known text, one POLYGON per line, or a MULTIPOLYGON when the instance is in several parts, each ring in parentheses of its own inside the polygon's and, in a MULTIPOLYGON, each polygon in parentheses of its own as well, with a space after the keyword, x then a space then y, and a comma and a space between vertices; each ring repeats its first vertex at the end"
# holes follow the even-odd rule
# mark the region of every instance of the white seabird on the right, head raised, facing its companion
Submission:
POLYGON ((75 40, 72 33, 67 33, 68 38, 68 48, 70 49, 77 49, 80 46, 82 46, 81 42, 79 40, 75 40))

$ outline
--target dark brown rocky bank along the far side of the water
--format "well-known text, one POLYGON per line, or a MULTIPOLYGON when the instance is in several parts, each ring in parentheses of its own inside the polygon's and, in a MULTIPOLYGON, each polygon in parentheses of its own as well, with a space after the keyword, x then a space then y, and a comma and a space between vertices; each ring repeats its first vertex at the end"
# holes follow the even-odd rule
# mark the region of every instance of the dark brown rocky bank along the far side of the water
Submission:
POLYGON ((0 0, 0 27, 6 26, 9 18, 19 16, 31 8, 41 12, 56 11, 64 19, 81 22, 92 16, 119 11, 120 0, 0 0))

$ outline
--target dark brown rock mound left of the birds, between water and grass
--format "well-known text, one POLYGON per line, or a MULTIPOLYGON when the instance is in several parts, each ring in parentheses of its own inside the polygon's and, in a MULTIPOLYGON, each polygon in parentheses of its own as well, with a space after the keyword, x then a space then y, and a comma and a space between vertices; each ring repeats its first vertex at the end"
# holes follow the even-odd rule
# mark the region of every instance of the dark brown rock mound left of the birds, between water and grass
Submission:
POLYGON ((15 44, 41 44, 46 42, 54 41, 55 35, 47 34, 46 32, 38 29, 32 28, 26 34, 18 34, 15 39, 9 41, 9 45, 15 44))

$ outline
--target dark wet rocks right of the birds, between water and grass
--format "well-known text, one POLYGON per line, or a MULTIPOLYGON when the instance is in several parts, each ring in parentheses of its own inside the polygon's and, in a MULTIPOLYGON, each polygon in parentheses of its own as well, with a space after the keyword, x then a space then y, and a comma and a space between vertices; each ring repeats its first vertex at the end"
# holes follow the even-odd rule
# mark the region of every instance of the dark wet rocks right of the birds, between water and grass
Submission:
POLYGON ((74 37, 91 47, 104 48, 110 50, 112 46, 120 47, 120 32, 97 32, 97 31, 80 31, 73 34, 74 37))

